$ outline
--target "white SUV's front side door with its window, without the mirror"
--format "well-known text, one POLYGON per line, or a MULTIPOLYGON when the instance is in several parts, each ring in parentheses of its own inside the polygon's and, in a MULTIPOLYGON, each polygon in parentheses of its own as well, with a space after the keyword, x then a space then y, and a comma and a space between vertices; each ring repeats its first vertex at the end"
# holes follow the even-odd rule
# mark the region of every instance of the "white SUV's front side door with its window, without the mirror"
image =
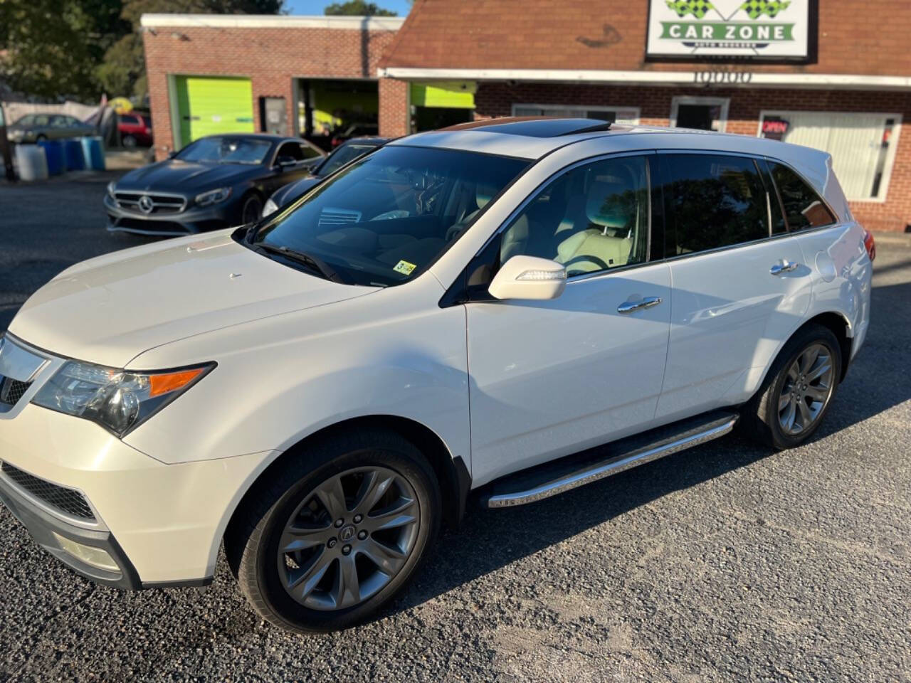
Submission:
POLYGON ((486 258, 496 267, 517 254, 568 270, 556 300, 466 304, 476 484, 650 427, 667 355, 670 270, 647 262, 649 157, 569 169, 473 270, 483 283, 486 258))

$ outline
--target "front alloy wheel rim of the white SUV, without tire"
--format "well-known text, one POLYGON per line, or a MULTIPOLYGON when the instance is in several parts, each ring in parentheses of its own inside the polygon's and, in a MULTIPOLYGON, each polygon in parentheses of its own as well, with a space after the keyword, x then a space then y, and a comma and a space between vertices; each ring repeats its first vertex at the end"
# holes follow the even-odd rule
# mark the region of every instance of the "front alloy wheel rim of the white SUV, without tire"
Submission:
POLYGON ((281 531, 281 585, 304 607, 354 607, 404 567, 419 525, 417 494, 401 474, 379 466, 335 474, 306 494, 281 531))

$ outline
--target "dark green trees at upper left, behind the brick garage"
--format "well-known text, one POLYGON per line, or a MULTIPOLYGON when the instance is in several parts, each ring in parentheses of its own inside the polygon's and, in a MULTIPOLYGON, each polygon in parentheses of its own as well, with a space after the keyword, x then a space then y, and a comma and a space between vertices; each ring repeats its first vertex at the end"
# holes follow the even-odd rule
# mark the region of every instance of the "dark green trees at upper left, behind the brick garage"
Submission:
POLYGON ((0 76, 36 97, 146 91, 145 13, 279 14, 283 0, 0 0, 0 76))

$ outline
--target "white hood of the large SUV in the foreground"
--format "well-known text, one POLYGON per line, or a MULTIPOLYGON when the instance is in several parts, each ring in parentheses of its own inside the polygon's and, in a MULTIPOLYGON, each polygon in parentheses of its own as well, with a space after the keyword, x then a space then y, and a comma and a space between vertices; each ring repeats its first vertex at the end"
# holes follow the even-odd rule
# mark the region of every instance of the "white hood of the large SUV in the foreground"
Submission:
POLYGON ((125 367, 161 344, 373 291, 293 270, 222 231, 64 270, 26 301, 9 331, 52 353, 125 367))

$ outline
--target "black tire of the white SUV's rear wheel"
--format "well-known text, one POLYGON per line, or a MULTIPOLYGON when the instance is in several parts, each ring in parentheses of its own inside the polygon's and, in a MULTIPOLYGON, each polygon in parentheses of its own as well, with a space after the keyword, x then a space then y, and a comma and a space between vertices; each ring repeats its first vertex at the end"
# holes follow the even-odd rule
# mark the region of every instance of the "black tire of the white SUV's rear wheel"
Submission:
MULTIPOLYGON (((804 325, 784 345, 784 348, 769 369, 759 391, 756 392, 749 403, 743 406, 741 413, 742 431, 776 450, 793 448, 804 443, 819 428, 825 413, 828 412, 829 406, 832 405, 841 372, 841 346, 832 331, 815 323, 804 325), (792 401, 798 406, 800 401, 804 401, 804 405, 812 403, 812 398, 808 402, 807 398, 800 392, 801 386, 805 390, 811 382, 806 384, 797 382, 795 385, 789 372, 794 367, 795 362, 798 363, 798 366, 800 365, 798 361, 804 356, 804 352, 813 349, 816 345, 823 347, 831 359, 831 376, 824 387, 827 395, 825 400, 821 402, 822 407, 814 414, 812 420, 802 425, 798 433, 791 433, 786 431, 783 426, 783 421, 787 421, 786 416, 790 407, 785 406, 782 409, 785 415, 783 417, 780 412, 779 401, 786 402, 788 401, 788 396, 791 395, 795 396, 792 401), (791 392, 791 390, 795 390, 796 394, 791 392)), ((820 388, 821 386, 814 387, 817 390, 820 388)), ((800 411, 797 411, 797 413, 800 413, 800 411)), ((799 425, 794 423, 794 426, 799 425)))

